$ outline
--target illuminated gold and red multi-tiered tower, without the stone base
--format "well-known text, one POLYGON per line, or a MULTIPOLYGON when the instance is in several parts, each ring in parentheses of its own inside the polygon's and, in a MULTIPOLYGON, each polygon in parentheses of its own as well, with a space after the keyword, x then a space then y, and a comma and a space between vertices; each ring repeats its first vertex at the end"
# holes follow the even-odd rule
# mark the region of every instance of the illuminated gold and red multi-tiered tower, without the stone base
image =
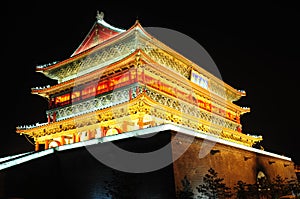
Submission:
POLYGON ((240 117, 250 109, 233 102, 244 91, 155 39, 138 21, 123 30, 103 13, 96 18, 68 59, 36 67, 57 84, 32 88, 49 102, 48 121, 16 129, 34 139, 35 150, 168 123, 250 147, 262 140, 242 132, 240 117))

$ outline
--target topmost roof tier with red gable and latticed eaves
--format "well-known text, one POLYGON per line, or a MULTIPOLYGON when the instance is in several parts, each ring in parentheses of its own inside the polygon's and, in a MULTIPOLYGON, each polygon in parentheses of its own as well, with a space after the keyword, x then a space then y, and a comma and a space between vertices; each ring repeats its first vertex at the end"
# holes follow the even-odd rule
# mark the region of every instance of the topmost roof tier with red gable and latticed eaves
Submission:
POLYGON ((81 45, 71 57, 52 64, 37 66, 36 71, 45 76, 67 82, 87 73, 105 68, 118 62, 133 52, 144 52, 151 63, 168 68, 178 75, 191 80, 192 75, 201 76, 212 92, 224 96, 230 101, 245 96, 245 92, 224 83, 201 66, 184 57, 174 49, 149 34, 137 20, 127 30, 115 28, 103 20, 103 13, 97 14, 97 22, 93 25, 81 45), (95 38, 95 39, 94 39, 95 38))

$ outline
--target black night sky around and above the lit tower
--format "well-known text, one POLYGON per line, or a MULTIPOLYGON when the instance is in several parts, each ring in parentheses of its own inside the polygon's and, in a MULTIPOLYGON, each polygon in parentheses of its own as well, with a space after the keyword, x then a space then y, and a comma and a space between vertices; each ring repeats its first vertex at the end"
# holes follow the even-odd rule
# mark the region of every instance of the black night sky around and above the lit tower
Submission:
POLYGON ((262 135, 266 151, 300 164, 299 6, 289 1, 193 2, 3 4, 0 157, 34 149, 15 128, 47 121, 47 101, 30 92, 32 87, 56 83, 35 72, 35 67, 70 57, 99 10, 106 22, 119 28, 128 29, 139 19, 144 27, 169 28, 196 40, 218 66, 223 81, 246 91, 247 95, 235 102, 251 108, 241 118, 243 131, 262 135))

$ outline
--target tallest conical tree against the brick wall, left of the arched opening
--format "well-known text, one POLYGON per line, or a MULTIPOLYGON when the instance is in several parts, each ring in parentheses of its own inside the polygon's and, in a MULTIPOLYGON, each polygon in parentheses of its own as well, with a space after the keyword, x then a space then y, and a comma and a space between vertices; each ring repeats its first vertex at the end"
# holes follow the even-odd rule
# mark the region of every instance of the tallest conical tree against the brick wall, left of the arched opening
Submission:
POLYGON ((223 183, 223 180, 218 177, 218 173, 213 168, 210 168, 208 174, 203 177, 203 184, 196 187, 200 194, 198 198, 230 198, 232 196, 231 189, 223 183))

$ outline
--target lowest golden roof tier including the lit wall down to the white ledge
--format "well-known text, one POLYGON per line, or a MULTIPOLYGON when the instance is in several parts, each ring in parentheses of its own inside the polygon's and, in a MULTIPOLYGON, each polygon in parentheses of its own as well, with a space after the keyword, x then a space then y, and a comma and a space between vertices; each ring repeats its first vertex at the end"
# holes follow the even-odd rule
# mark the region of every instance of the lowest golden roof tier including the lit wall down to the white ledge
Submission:
MULTIPOLYGON (((252 146, 262 140, 261 136, 246 135, 237 130, 222 126, 225 120, 220 120, 212 114, 203 115, 197 108, 180 103, 175 109, 168 99, 165 103, 153 100, 150 93, 142 92, 136 98, 120 102, 111 107, 91 111, 81 115, 53 121, 33 128, 17 128, 17 133, 28 135, 38 143, 48 143, 51 140, 74 136, 86 140, 91 135, 100 133, 107 136, 109 129, 116 129, 117 133, 159 126, 170 123, 192 129, 199 134, 215 136, 245 146, 252 146), (206 118, 203 118, 206 117, 206 118), (88 133, 93 132, 93 133, 88 133)), ((163 98, 161 98, 163 99, 163 98)), ((93 136, 92 136, 93 137, 93 136)), ((71 143, 71 141, 70 141, 71 143)))

